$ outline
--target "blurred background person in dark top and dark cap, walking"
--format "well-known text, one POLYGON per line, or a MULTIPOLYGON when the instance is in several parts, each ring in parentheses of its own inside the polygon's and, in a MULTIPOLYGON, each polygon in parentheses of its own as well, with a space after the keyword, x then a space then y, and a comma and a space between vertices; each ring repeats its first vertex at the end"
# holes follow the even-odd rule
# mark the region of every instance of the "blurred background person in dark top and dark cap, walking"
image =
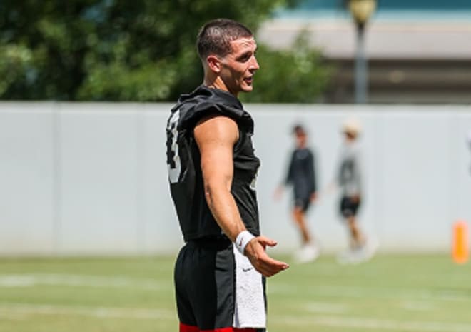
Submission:
POLYGON ((308 146, 308 133, 304 127, 297 124, 293 127, 296 147, 293 150, 288 165, 288 171, 283 185, 278 186, 275 198, 279 198, 283 187, 293 186, 293 220, 299 228, 302 246, 295 254, 296 261, 306 263, 314 261, 319 256, 319 248, 310 235, 305 214, 310 203, 317 196, 315 159, 313 151, 308 146))

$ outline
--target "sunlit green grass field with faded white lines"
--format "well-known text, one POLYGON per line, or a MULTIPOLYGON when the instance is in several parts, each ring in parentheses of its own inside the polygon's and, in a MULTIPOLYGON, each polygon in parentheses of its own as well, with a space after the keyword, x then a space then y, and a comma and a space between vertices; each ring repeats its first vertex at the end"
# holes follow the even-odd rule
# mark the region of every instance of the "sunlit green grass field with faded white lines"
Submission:
MULTIPOLYGON (((177 331, 173 260, 1 259, 0 332, 177 331)), ((471 332, 471 263, 324 256, 270 278, 268 311, 269 332, 471 332)))

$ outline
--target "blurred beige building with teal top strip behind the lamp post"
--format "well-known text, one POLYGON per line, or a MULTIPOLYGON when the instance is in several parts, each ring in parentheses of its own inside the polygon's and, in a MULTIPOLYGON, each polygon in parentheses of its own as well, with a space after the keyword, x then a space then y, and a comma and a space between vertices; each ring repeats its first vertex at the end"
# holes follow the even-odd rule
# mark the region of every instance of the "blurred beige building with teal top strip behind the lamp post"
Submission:
MULTIPOLYGON (((355 27, 344 0, 278 11, 258 39, 288 48, 306 29, 337 69, 322 101, 353 102, 355 27)), ((471 103, 471 1, 378 0, 366 30, 370 103, 471 103)))

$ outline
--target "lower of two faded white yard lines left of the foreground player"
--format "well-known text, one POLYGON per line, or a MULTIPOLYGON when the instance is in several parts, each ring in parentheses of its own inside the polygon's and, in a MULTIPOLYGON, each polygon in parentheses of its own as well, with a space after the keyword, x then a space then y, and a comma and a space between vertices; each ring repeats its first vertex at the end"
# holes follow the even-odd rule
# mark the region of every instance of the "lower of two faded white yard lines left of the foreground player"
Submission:
POLYGON ((52 306, 49 304, 0 303, 0 319, 31 315, 71 315, 96 318, 173 319, 176 313, 163 309, 52 306))

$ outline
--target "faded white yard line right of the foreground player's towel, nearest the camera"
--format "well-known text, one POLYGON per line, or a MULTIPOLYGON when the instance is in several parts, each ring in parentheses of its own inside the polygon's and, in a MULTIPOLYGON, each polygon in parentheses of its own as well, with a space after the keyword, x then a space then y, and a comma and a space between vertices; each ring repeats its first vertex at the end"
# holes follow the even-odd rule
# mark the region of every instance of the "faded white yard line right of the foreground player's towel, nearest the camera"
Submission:
POLYGON ((371 318, 346 318, 345 316, 328 317, 294 317, 271 316, 270 321, 288 326, 330 326, 340 328, 361 328, 376 331, 408 331, 408 332, 470 332, 471 324, 435 323, 420 321, 395 321, 371 318))

